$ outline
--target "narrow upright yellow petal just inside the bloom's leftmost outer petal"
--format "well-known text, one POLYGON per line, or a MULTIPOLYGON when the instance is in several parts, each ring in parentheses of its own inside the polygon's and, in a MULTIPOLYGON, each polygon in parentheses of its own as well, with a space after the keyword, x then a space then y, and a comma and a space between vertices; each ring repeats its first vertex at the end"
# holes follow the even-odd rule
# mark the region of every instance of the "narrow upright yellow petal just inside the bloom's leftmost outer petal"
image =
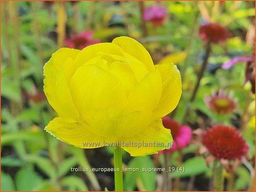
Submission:
POLYGON ((69 123, 74 123, 79 117, 77 109, 73 103, 68 83, 65 78, 65 69, 61 70, 57 75, 55 84, 56 99, 60 110, 57 111, 58 115, 69 123))

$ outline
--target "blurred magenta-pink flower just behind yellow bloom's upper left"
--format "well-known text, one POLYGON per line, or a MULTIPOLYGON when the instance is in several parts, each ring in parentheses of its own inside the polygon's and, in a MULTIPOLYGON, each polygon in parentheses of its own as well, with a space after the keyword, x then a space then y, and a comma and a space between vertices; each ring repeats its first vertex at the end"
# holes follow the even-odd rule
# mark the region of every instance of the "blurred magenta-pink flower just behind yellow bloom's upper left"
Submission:
POLYGON ((101 43, 99 39, 92 39, 93 34, 93 31, 83 31, 78 34, 72 34, 70 38, 65 40, 65 45, 69 48, 82 50, 89 45, 101 43))

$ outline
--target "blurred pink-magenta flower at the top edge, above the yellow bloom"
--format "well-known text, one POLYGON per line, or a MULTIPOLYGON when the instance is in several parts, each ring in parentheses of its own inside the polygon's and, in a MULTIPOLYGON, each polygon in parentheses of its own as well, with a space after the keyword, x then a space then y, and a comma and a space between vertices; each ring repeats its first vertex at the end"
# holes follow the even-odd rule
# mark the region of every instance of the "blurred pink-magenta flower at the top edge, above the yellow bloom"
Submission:
POLYGON ((145 21, 150 21, 153 26, 162 26, 164 19, 167 15, 167 8, 160 5, 153 5, 147 7, 143 13, 143 19, 145 21))

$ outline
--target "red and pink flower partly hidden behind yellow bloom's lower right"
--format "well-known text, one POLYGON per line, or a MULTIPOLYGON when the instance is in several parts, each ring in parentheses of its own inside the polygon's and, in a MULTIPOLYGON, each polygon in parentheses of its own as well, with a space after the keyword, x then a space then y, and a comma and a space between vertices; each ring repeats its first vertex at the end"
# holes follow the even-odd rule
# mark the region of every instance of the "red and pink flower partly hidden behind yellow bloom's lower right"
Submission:
POLYGON ((189 144, 192 137, 192 131, 189 126, 181 126, 177 121, 174 121, 169 116, 163 117, 162 121, 164 127, 171 130, 173 146, 170 149, 165 149, 159 153, 174 152, 176 150, 183 149, 189 144))

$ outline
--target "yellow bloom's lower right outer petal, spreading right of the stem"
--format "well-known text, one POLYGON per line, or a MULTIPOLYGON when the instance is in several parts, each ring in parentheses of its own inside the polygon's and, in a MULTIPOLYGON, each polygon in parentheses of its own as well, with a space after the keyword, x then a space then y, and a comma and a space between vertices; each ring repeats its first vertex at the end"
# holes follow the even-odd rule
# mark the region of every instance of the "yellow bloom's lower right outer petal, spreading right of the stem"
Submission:
POLYGON ((130 153, 131 156, 145 156, 155 154, 163 149, 169 149, 172 144, 172 137, 171 131, 164 128, 162 120, 159 119, 152 123, 146 131, 133 137, 124 138, 123 141, 130 144, 128 147, 121 147, 130 153), (131 142, 133 142, 133 146, 131 142), (141 146, 139 147, 139 145, 141 146))

